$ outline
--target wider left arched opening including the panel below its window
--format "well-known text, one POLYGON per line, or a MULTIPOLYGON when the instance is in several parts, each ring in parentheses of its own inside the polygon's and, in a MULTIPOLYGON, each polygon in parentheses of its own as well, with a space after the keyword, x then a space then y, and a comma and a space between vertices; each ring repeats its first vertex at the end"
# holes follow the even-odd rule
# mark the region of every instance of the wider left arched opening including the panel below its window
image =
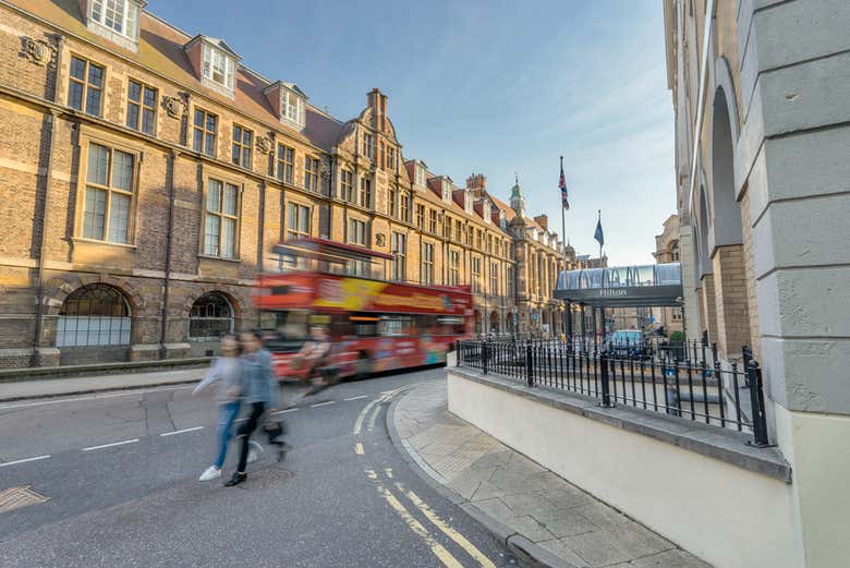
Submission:
POLYGON ((57 318, 60 363, 124 361, 131 329, 130 302, 118 288, 105 283, 77 288, 62 302, 57 318))

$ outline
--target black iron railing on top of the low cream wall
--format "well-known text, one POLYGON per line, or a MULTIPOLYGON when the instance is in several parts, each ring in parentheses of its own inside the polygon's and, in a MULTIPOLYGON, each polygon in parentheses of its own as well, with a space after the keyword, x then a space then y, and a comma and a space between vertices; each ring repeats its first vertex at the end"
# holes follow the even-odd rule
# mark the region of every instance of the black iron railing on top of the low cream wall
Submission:
POLYGON ((758 363, 744 347, 743 365, 726 364, 714 346, 665 350, 592 341, 471 339, 458 342, 458 365, 753 434, 768 445, 758 363), (691 356, 700 359, 691 359, 691 356))

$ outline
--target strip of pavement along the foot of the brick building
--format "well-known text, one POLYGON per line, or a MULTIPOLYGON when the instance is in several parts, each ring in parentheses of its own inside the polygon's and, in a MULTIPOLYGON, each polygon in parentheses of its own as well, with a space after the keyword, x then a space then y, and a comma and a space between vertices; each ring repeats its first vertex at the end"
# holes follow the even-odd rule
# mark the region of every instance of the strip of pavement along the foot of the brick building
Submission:
POLYGON ((0 401, 28 398, 86 395, 89 392, 131 390, 163 385, 195 383, 206 375, 208 367, 177 371, 148 371, 86 377, 25 378, 0 382, 0 401))

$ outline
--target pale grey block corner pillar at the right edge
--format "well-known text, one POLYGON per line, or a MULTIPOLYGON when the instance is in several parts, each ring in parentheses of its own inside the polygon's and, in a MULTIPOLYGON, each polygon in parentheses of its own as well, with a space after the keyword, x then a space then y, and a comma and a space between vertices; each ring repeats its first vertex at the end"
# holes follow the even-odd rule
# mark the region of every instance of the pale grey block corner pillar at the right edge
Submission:
POLYGON ((850 558, 850 2, 741 1, 736 189, 800 566, 850 558))

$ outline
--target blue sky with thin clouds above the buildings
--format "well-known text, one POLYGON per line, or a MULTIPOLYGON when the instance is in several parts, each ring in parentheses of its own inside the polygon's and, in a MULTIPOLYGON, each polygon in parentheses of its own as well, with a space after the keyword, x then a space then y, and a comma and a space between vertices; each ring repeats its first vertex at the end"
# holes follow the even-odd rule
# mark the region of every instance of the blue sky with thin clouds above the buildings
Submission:
POLYGON ((658 0, 149 0, 190 34, 223 38, 243 63, 292 81, 340 120, 389 96, 405 158, 507 200, 560 232, 558 157, 581 253, 603 212, 611 264, 651 263, 675 212, 673 116, 658 0))

